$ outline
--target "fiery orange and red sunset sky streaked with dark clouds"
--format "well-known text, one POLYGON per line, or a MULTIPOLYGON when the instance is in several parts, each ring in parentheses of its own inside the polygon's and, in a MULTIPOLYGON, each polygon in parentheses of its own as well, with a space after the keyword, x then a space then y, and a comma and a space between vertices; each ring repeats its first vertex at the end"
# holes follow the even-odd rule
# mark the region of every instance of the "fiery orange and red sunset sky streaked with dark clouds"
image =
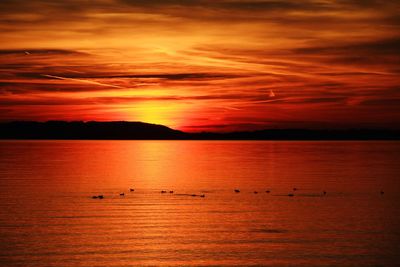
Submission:
POLYGON ((0 121, 400 128, 398 0, 1 0, 0 121))

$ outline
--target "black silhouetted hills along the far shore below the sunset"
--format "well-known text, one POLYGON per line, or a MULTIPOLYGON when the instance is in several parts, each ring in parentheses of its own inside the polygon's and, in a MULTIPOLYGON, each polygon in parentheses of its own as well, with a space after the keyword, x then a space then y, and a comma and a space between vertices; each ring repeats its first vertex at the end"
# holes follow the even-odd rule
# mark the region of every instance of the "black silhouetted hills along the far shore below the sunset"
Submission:
POLYGON ((399 130, 269 129, 231 133, 185 133, 143 122, 15 121, 0 123, 0 139, 83 140, 400 140, 399 130))

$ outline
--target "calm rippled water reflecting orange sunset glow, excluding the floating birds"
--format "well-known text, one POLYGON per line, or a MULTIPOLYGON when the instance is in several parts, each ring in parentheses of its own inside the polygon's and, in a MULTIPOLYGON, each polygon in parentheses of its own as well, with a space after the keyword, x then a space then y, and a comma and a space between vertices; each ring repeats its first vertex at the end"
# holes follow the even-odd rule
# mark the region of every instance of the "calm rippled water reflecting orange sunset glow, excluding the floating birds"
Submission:
POLYGON ((400 142, 0 141, 0 266, 397 266, 399 162, 400 142))

